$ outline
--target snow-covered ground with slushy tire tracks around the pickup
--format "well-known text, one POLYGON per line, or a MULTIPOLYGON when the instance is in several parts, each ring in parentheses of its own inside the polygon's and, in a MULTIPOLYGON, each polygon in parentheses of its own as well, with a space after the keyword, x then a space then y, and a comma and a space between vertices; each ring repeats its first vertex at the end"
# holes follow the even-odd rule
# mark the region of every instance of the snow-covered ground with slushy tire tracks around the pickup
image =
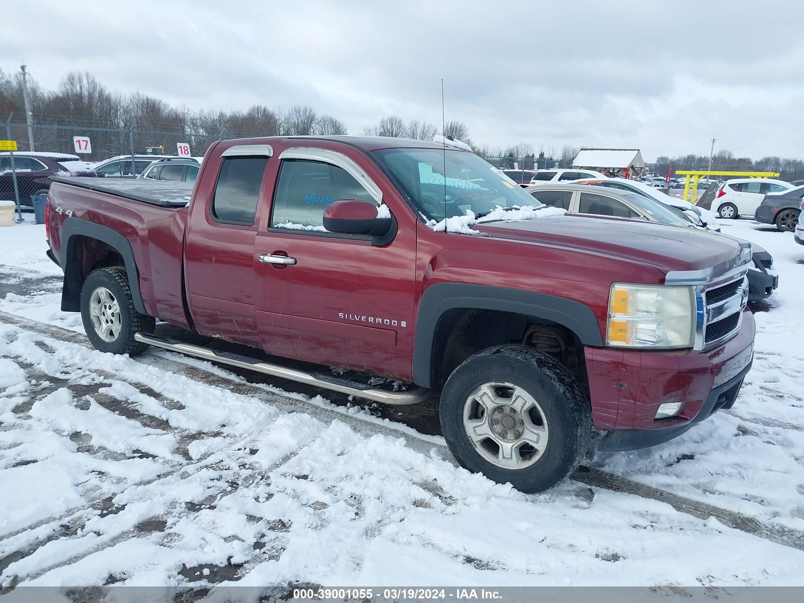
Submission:
MULTIPOLYGON (((735 407, 585 464, 804 535, 804 247, 721 226, 780 273, 735 407)), ((804 584, 804 539, 579 482, 521 494, 357 407, 162 351, 94 351, 45 248, 43 227, 0 229, 0 589, 804 584)))

